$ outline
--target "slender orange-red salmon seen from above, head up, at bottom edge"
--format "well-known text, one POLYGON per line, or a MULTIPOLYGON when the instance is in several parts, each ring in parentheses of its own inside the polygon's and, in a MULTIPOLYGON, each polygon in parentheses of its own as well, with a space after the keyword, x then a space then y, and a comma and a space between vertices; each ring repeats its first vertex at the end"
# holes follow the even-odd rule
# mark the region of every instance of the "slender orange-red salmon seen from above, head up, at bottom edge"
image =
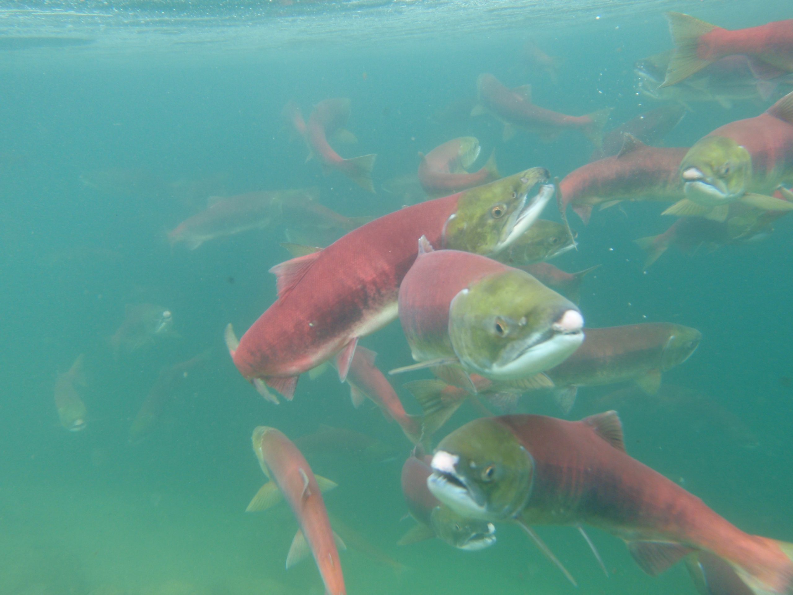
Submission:
POLYGON ((259 466, 270 481, 259 489, 247 512, 266 510, 285 500, 299 526, 286 567, 297 564, 310 551, 328 595, 346 595, 337 545, 347 547, 331 529, 320 493, 335 487, 335 483, 314 475, 301 451, 277 429, 259 426, 252 441, 259 466))

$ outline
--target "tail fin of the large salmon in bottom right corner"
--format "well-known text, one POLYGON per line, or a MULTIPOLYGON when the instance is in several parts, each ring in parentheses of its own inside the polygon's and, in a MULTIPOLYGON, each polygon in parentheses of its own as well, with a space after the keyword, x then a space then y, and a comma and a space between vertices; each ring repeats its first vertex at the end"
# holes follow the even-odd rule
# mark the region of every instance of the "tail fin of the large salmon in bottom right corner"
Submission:
POLYGON ((793 543, 753 536, 750 562, 727 560, 755 595, 793 593, 793 543))

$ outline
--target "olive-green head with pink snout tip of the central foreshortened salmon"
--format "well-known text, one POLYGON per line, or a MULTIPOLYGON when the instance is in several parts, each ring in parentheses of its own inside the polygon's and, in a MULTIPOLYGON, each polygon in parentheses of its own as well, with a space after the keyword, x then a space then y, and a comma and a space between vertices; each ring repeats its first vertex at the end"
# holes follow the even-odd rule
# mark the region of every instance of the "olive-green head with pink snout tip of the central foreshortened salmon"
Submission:
POLYGON ((572 301, 517 269, 466 287, 449 307, 449 338, 465 370, 516 380, 562 363, 584 340, 572 301))

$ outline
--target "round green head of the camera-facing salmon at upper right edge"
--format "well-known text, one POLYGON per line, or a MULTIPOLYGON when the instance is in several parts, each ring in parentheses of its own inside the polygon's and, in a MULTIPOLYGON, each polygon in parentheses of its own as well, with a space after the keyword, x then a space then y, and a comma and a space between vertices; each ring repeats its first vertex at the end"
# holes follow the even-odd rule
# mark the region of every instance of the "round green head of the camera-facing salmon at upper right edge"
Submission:
POLYGON ((688 149, 680 175, 688 200, 703 206, 725 205, 748 189, 752 157, 726 136, 706 136, 688 149))

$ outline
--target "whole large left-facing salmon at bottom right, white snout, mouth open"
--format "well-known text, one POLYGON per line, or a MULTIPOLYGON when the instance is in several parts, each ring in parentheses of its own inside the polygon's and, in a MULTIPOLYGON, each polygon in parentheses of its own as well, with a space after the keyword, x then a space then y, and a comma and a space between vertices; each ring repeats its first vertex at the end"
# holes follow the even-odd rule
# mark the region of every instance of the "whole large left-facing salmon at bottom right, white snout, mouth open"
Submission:
POLYGON ((652 575, 705 551, 729 562, 756 593, 782 595, 793 586, 793 545, 742 532, 632 459, 614 411, 580 421, 537 415, 473 420, 441 440, 432 470, 427 485, 435 497, 464 516, 519 524, 573 584, 531 525, 603 529, 624 539, 652 575))

